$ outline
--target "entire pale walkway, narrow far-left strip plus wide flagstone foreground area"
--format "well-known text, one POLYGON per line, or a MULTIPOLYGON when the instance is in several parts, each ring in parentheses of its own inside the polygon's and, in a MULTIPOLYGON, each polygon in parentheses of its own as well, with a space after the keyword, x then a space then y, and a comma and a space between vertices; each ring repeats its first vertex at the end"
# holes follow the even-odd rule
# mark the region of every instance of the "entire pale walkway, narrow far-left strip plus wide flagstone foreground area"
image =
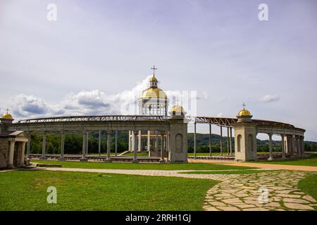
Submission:
POLYGON ((297 188, 308 172, 266 171, 258 174, 182 174, 192 170, 36 168, 49 171, 98 172, 143 176, 177 176, 221 181, 207 193, 204 210, 317 210, 317 202, 297 188), (267 195, 266 195, 267 193, 267 195), (266 196, 268 198, 266 198, 266 196))

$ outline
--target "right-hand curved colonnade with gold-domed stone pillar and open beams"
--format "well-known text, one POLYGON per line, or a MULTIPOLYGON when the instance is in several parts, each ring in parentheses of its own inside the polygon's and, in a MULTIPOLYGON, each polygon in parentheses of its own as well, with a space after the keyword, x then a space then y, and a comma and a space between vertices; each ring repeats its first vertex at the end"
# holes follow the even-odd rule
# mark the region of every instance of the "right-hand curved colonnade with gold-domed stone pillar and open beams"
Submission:
MULTIPOLYGON (((245 105, 244 105, 245 106, 245 105)), ((194 158, 197 158, 196 124, 209 124, 209 152, 211 156, 211 125, 220 127, 220 155, 223 155, 223 127, 227 128, 228 154, 232 155, 232 128, 235 129, 235 160, 257 160, 256 135, 268 135, 270 155, 273 160, 273 134, 280 135, 282 139, 282 158, 286 155, 293 157, 304 156, 304 129, 294 127, 292 124, 269 120, 254 120, 245 108, 240 110, 237 118, 228 117, 188 117, 194 122, 194 158)))

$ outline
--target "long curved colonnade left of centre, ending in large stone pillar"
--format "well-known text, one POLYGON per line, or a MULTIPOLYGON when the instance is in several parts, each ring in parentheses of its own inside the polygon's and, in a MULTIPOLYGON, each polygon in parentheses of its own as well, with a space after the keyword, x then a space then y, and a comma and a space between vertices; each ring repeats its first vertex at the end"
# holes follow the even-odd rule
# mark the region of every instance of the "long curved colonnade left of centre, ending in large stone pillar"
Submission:
MULTIPOLYGON (((61 156, 64 160, 65 134, 69 131, 82 133, 82 162, 87 161, 87 134, 89 131, 99 131, 99 152, 101 149, 101 131, 107 134, 107 157, 106 162, 111 162, 110 140, 113 131, 117 136, 118 131, 130 131, 132 133, 134 156, 132 162, 138 162, 137 158, 137 134, 141 131, 159 132, 162 135, 161 162, 187 162, 187 120, 180 115, 176 116, 139 116, 139 115, 99 115, 99 116, 71 116, 71 117, 46 117, 20 120, 16 123, 3 124, 3 131, 25 131, 28 137, 27 156, 30 155, 30 133, 32 131, 42 132, 42 156, 46 159, 46 135, 50 132, 61 134, 61 156), (163 149, 163 146, 165 149, 163 149), (166 153, 166 155, 164 155, 166 153), (167 156, 167 160, 166 160, 167 156)), ((159 155, 158 155, 159 157, 159 155)))

